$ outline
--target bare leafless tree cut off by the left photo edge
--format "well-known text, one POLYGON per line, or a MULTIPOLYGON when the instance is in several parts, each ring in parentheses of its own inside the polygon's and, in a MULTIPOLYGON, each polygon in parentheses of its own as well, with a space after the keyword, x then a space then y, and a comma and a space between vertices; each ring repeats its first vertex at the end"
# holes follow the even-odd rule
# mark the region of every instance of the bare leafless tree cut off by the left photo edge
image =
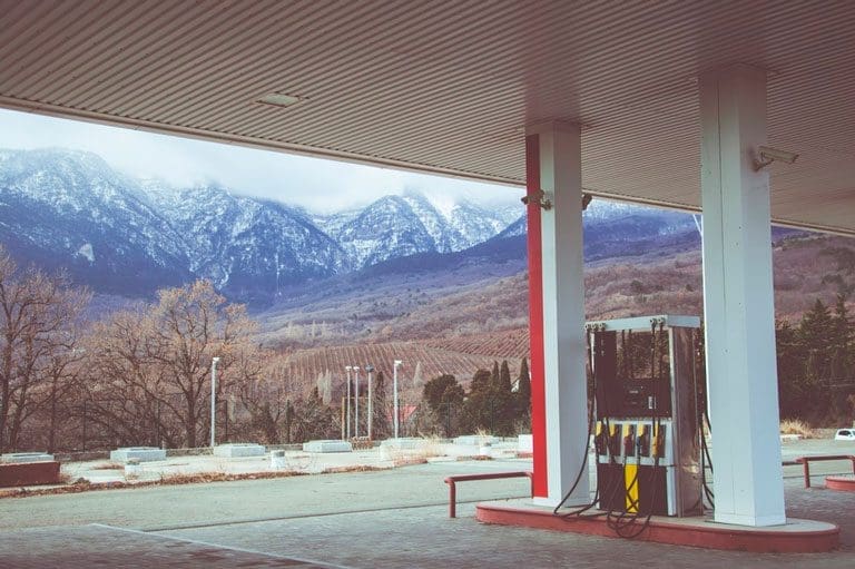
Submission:
POLYGON ((77 322, 89 301, 63 275, 20 271, 0 247, 0 451, 17 449, 27 421, 57 402, 78 357, 77 322))

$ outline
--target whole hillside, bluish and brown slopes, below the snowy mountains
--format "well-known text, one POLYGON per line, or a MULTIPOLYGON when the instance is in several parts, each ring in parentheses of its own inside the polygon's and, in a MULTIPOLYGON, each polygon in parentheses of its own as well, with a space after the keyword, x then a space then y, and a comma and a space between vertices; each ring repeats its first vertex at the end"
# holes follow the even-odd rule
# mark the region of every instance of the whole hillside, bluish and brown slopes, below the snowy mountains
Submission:
MULTIPOLYGON (((843 237, 795 235, 774 247, 779 318, 796 320, 816 298, 833 302, 838 283, 853 281, 832 255, 855 252, 843 237)), ((315 287, 289 306, 261 314, 271 344, 292 349, 360 342, 425 341, 425 345, 489 357, 521 357, 514 331, 528 325, 528 276, 522 259, 455 263, 451 271, 415 269, 315 287), (507 335, 503 335, 505 334, 507 335), (479 340, 482 339, 483 340, 479 340)), ((589 263, 589 320, 642 314, 702 314, 697 247, 684 252, 589 263)))

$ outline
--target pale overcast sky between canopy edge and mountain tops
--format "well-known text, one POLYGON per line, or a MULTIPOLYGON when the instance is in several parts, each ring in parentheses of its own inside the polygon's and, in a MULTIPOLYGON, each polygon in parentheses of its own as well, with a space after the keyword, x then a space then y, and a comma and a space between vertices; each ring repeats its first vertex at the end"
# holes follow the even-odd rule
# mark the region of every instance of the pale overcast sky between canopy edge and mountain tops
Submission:
POLYGON ((307 158, 92 122, 0 109, 0 148, 63 147, 100 155, 116 169, 173 185, 218 182, 236 194, 273 198, 318 213, 358 207, 380 196, 421 190, 432 200, 481 205, 519 202, 520 188, 307 158))

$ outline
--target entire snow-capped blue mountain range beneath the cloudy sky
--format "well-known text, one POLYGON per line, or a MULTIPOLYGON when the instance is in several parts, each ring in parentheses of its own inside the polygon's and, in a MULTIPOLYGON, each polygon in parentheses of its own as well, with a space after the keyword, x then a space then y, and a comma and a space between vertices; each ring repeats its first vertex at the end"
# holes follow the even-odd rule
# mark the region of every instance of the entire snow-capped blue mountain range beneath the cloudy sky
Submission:
POLYGON ((239 300, 415 253, 461 251, 507 223, 469 203, 385 196, 312 216, 217 185, 176 188, 96 155, 0 150, 0 238, 19 261, 65 268, 97 292, 147 294, 196 277, 239 300))

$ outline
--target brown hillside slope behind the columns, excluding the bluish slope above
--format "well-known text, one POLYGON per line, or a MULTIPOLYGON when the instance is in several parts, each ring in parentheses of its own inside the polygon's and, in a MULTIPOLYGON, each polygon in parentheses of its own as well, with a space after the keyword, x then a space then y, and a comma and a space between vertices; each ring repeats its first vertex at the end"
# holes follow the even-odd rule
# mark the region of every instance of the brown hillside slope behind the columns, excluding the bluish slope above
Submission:
MULTIPOLYGON (((837 285, 832 277, 855 276, 841 271, 827 254, 832 247, 855 251, 853 239, 812 236, 785 239, 774 248, 775 306, 779 318, 795 320, 816 298, 834 302, 837 285)), ((700 252, 669 256, 611 259, 586 269, 586 317, 607 320, 645 314, 702 315, 700 252)), ((497 353, 489 346, 503 342, 501 332, 524 328, 528 323, 528 278, 524 273, 485 282, 478 290, 450 294, 420 306, 406 317, 386 323, 380 337, 425 339, 449 350, 515 356, 520 344, 507 341, 497 353), (483 340, 474 340, 487 334, 483 340), (460 342, 454 341, 460 339, 460 342), (448 342, 438 342, 438 341, 448 342)), ((511 334, 512 337, 513 334, 511 334)))

